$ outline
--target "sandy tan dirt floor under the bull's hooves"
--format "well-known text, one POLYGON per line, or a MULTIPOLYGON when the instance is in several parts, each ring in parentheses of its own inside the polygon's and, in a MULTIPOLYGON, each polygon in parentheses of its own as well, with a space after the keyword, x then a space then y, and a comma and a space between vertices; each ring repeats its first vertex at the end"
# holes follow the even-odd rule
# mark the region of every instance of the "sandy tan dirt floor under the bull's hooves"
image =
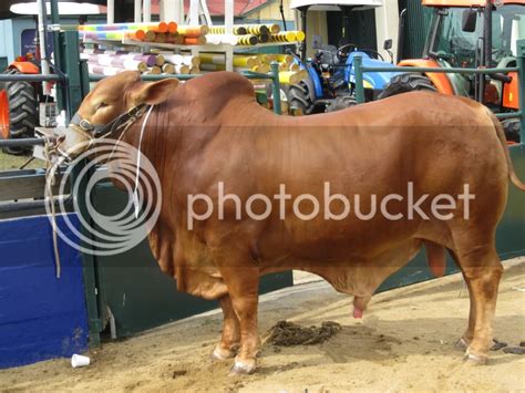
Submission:
MULTIPOLYGON (((525 340, 525 258, 505 266, 495 337, 516 347, 525 340)), ((462 362, 454 349, 467 321, 462 287, 454 275, 380 293, 363 320, 351 317, 349 297, 325 282, 265 296, 265 343, 254 375, 228 376, 231 362, 210 360, 222 321, 212 312, 106 343, 91 351, 92 364, 84 369, 58 359, 0 371, 0 391, 524 391, 525 355, 500 350, 484 366, 462 362), (269 329, 285 319, 305 328, 328 321, 341 328, 325 324, 336 327, 334 334, 320 343, 276 347, 267 340, 269 329)))

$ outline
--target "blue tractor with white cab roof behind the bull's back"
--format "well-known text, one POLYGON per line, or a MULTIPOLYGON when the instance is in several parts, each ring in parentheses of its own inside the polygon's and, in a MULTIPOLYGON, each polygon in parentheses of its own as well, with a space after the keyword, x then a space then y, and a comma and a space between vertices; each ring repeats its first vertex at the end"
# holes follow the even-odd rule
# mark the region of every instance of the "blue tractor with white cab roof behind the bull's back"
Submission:
MULTIPOLYGON (((375 48, 375 41, 369 43, 373 48, 361 46, 356 41, 351 41, 352 34, 349 33, 352 28, 353 30, 357 28, 351 25, 352 13, 373 11, 374 8, 381 6, 383 6, 382 0, 291 1, 290 8, 299 11, 301 29, 307 34, 300 49, 300 56, 296 56, 296 62, 308 72, 306 79, 285 87, 285 99, 292 112, 302 114, 332 112, 353 105, 353 59, 357 54, 363 58, 363 64, 366 65, 391 65, 393 62, 390 52, 392 40, 387 40, 387 44, 382 48, 389 53, 388 58, 384 59, 383 54, 375 48), (337 24, 340 28, 337 41, 332 39, 332 42, 323 43, 320 35, 310 37, 311 33, 307 27, 307 14, 313 11, 330 13, 332 21, 334 14, 340 15, 337 24), (309 43, 310 48, 307 46, 309 43), (311 50, 313 53, 308 59, 307 53, 311 50)), ((333 30, 336 29, 332 29, 332 32, 333 30)), ((373 35, 375 35, 375 32, 373 35)), ((353 34, 353 37, 358 37, 358 34, 353 34)), ((395 74, 392 72, 367 73, 364 81, 367 99, 371 101, 377 97, 393 75, 395 74)))

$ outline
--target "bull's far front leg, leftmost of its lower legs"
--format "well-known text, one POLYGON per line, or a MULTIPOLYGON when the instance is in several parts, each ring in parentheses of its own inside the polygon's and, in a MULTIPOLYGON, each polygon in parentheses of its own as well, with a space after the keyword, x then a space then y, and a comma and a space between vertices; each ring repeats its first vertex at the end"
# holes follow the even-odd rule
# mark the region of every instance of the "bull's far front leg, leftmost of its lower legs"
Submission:
POLYGON ((213 358, 226 360, 237 354, 240 344, 240 327, 229 294, 220 298, 219 304, 224 314, 223 335, 220 342, 215 347, 213 358))

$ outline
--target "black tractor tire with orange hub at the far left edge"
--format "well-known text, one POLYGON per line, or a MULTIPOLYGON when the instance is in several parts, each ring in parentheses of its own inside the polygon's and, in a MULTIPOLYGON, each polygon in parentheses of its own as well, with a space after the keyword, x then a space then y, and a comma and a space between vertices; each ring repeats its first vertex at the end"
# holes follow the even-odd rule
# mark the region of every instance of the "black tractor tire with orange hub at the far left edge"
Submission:
MULTIPOLYGON (((9 69, 4 74, 20 74, 17 69, 9 69)), ((29 82, 12 81, 0 86, 7 93, 9 115, 6 121, 1 137, 4 139, 18 139, 34 136, 34 127, 38 125, 38 101, 34 85, 29 82)), ((0 108, 1 111, 2 108, 0 108)), ((8 154, 21 155, 32 152, 32 147, 3 147, 8 154)))

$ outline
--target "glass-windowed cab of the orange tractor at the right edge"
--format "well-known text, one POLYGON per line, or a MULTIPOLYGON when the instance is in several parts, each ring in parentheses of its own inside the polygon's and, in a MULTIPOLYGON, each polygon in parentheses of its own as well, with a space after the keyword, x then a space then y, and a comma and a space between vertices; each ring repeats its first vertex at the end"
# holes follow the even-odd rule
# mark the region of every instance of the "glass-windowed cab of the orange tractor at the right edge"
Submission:
MULTIPOLYGON (((525 38, 525 7, 502 3, 494 6, 490 15, 486 11, 485 7, 475 6, 436 8, 423 58, 435 60, 445 68, 515 66, 516 42, 525 38)), ((513 81, 496 76, 483 83, 480 81, 483 77, 469 74, 455 74, 453 77, 451 85, 454 94, 505 107, 501 102, 502 90, 505 83, 513 81)), ((517 110, 517 97, 509 104, 507 108, 517 110)))

